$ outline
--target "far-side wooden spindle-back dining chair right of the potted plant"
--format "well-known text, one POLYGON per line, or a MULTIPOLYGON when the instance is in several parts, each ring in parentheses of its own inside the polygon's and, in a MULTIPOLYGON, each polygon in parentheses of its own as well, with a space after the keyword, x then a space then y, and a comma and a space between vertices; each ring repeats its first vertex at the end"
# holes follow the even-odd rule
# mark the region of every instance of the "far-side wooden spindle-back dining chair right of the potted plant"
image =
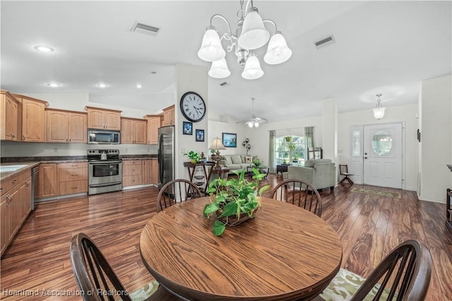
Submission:
POLYGON ((286 179, 278 183, 270 192, 272 199, 292 203, 317 216, 322 215, 322 199, 319 191, 302 179, 286 179))

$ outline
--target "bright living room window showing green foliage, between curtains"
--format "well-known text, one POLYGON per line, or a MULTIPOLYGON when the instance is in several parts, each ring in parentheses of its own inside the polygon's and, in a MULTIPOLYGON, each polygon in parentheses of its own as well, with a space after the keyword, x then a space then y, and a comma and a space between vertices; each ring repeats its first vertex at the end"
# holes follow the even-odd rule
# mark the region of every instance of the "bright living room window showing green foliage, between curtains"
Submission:
POLYGON ((304 165, 306 148, 304 136, 281 136, 275 138, 276 164, 304 165))

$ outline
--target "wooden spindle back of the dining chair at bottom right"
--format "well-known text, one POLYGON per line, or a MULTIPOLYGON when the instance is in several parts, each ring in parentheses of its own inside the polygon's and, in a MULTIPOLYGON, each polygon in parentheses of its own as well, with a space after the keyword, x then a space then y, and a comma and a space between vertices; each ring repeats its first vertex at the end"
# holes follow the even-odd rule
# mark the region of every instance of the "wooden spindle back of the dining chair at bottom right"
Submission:
POLYGON ((427 295, 431 275, 432 256, 429 249, 417 240, 407 240, 376 266, 352 300, 364 300, 375 287, 374 300, 387 295, 382 300, 421 301, 427 295))

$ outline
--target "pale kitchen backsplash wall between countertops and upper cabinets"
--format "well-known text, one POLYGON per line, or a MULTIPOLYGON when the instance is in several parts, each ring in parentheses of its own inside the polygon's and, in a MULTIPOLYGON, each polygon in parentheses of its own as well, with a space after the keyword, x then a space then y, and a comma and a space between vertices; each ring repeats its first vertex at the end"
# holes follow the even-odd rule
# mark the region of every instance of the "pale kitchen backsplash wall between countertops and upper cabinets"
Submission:
POLYGON ((85 143, 31 143, 1 141, 1 158, 85 156, 88 149, 118 149, 120 155, 157 154, 156 145, 142 144, 85 144, 85 143))

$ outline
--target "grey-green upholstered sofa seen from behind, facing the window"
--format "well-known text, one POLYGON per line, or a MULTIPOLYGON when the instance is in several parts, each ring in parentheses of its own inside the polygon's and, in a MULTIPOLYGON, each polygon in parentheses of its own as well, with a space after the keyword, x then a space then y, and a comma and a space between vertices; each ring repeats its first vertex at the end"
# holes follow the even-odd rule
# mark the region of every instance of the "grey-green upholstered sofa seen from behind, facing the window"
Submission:
POLYGON ((331 188, 336 184, 336 167, 330 159, 307 160, 302 166, 287 166, 284 179, 302 179, 311 183, 316 189, 331 188))

